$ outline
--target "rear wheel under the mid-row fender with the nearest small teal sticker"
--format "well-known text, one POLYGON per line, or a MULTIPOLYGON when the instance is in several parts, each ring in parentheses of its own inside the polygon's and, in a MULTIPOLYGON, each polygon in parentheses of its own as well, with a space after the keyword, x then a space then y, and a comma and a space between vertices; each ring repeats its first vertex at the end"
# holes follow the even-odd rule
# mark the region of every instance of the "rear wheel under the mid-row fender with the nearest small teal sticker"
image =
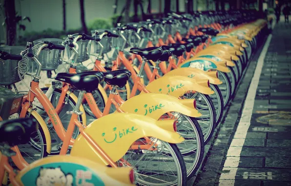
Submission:
POLYGON ((229 103, 231 97, 231 84, 229 76, 221 71, 218 71, 218 77, 222 81, 222 84, 218 85, 218 88, 223 97, 224 107, 229 103))

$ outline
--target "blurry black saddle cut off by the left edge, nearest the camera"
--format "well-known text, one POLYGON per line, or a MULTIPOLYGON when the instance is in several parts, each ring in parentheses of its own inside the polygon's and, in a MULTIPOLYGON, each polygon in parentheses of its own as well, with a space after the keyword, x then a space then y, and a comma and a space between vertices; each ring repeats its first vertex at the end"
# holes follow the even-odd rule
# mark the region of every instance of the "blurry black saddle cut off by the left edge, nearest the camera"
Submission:
POLYGON ((0 143, 9 146, 27 143, 37 128, 36 119, 29 117, 0 121, 0 143))

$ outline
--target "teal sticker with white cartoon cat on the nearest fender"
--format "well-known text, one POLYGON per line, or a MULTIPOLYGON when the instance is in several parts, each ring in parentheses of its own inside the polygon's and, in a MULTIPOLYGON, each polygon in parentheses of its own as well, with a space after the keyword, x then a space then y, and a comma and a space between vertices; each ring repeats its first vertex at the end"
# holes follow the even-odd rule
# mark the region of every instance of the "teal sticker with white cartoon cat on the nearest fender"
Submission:
POLYGON ((76 163, 49 163, 37 166, 21 177, 24 186, 104 186, 102 179, 76 163))

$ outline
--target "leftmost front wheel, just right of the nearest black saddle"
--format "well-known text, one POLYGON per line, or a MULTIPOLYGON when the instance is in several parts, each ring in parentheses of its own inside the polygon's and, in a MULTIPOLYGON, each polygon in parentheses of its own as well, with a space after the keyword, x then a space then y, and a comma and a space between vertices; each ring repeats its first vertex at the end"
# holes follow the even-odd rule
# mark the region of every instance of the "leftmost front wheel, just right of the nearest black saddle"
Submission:
POLYGON ((42 126, 39 124, 41 121, 39 121, 35 116, 28 112, 26 113, 25 117, 36 119, 39 126, 38 130, 31 134, 31 138, 27 143, 17 145, 23 159, 30 164, 48 156, 46 146, 47 139, 45 138, 42 126))

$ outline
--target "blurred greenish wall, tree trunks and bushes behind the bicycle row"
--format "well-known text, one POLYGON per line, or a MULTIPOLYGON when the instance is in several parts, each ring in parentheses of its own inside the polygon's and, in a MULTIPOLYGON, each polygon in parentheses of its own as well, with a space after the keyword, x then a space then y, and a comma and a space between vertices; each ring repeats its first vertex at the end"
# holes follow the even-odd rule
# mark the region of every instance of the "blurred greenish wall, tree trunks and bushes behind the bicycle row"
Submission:
POLYGON ((1 45, 90 33, 116 23, 163 17, 173 11, 256 9, 272 14, 291 0, 0 0, 1 45))

